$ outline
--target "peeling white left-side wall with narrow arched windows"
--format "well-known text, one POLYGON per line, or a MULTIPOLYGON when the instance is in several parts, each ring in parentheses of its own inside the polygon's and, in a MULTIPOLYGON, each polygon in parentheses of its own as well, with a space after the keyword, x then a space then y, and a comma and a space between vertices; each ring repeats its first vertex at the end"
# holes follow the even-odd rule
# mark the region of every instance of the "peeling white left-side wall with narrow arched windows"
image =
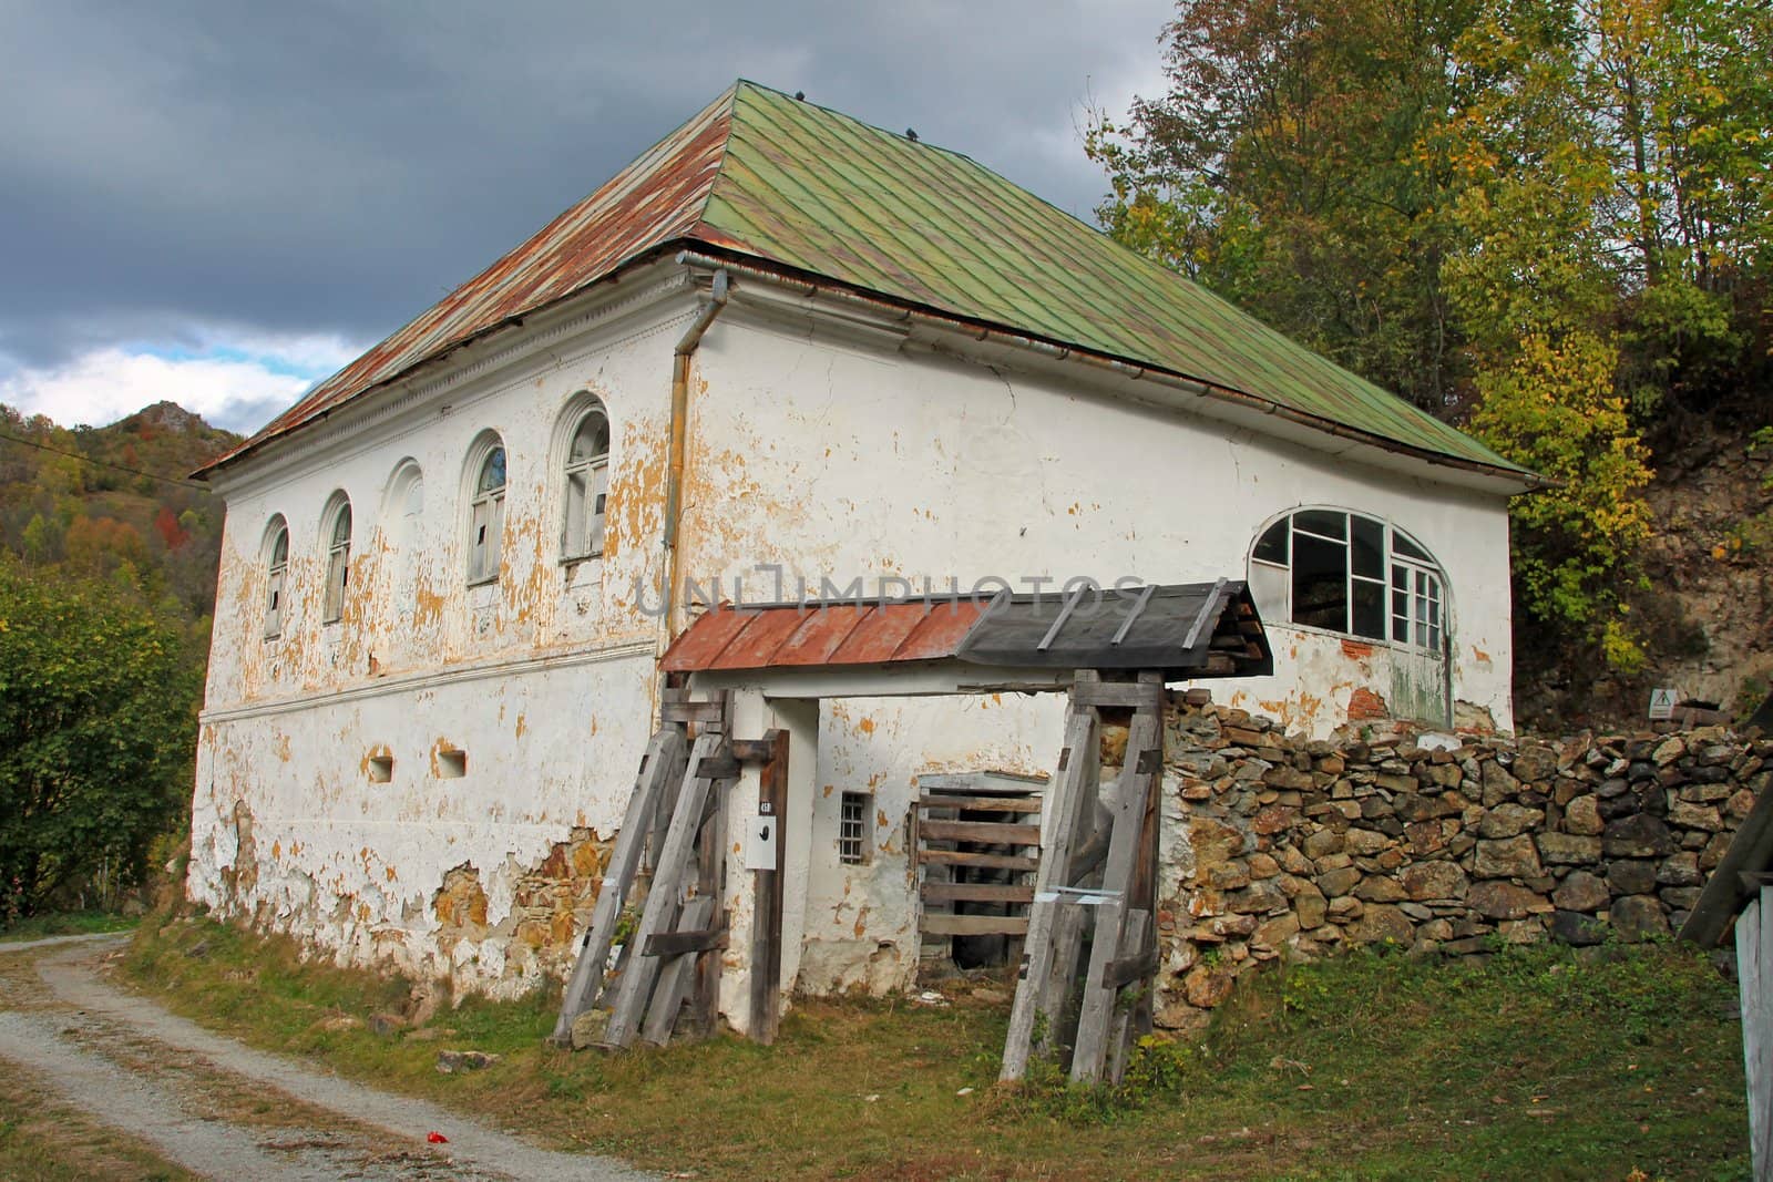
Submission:
POLYGON ((463 989, 516 992, 562 971, 573 925, 557 914, 589 913, 654 712, 660 626, 635 581, 660 574, 670 354, 693 294, 681 275, 647 280, 223 477, 193 898, 463 989), (608 540, 564 565, 562 411, 576 392, 612 422, 608 540), (468 457, 484 431, 507 452, 500 576, 468 587, 468 457), (321 624, 335 491, 353 510, 349 588, 344 618, 321 624), (291 551, 268 640, 273 514, 291 551), (387 783, 371 757, 392 757, 387 783))

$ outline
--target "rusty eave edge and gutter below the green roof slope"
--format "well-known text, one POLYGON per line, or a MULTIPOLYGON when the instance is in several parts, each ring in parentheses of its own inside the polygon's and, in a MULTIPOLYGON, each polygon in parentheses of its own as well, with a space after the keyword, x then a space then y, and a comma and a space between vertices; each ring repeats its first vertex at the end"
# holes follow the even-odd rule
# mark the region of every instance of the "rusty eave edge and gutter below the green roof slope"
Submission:
POLYGON ((1002 323, 982 321, 961 315, 957 312, 949 312, 945 308, 938 308, 933 305, 913 303, 910 299, 902 299, 888 292, 855 287, 853 284, 844 284, 842 280, 832 278, 830 275, 821 275, 817 271, 803 271, 800 268, 777 262, 775 259, 769 259, 766 255, 755 255, 750 252, 741 252, 715 243, 697 241, 695 246, 697 246, 695 250, 681 250, 677 253, 677 261, 686 266, 700 266, 700 268, 738 268, 739 273, 750 273, 754 278, 761 278, 764 282, 775 282, 784 285, 801 284, 807 287, 803 294, 807 294, 808 298, 817 292, 828 292, 844 299, 855 299, 860 303, 885 307, 895 312, 904 312, 911 317, 936 321, 947 328, 954 326, 972 328, 977 331, 970 335, 973 335, 977 340, 993 340, 1011 347, 1044 353, 1046 356, 1057 362, 1066 362, 1074 358, 1087 365, 1097 365, 1101 369, 1108 369, 1133 381, 1140 379, 1158 381, 1160 385, 1175 386, 1188 393, 1197 393, 1200 397, 1216 399, 1220 402, 1243 406, 1246 409, 1261 411, 1262 415, 1285 418, 1303 427, 1310 427, 1323 434, 1349 439, 1353 443, 1376 447, 1385 452, 1406 455, 1410 459, 1420 459, 1443 468, 1456 468, 1461 471, 1472 471, 1475 475, 1491 477, 1505 484, 1516 486, 1519 493, 1535 493, 1539 489, 1548 489, 1557 486, 1557 480, 1544 477, 1537 471, 1530 471, 1527 468, 1519 468, 1514 464, 1484 464, 1479 461, 1449 455, 1445 452, 1415 447, 1411 443, 1402 443, 1401 439, 1392 439, 1388 436, 1372 431, 1349 427, 1347 424, 1340 424, 1333 418, 1324 418, 1321 415, 1312 415, 1308 411, 1300 411, 1291 406, 1284 406, 1282 402, 1266 399, 1259 393, 1250 393, 1248 390, 1238 390, 1223 383, 1215 383, 1204 377, 1195 377, 1191 374, 1183 374, 1179 370, 1151 365, 1149 362, 1115 356, 1112 353, 1103 353, 1099 349, 1092 349, 1089 346, 1082 346, 1076 342, 1039 337, 1002 323))

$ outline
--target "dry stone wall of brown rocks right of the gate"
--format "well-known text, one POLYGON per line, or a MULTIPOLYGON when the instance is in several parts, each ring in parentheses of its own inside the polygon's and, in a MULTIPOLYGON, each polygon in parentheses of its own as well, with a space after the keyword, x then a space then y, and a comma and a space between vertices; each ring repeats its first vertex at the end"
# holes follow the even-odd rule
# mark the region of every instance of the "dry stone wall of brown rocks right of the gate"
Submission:
POLYGON ((1277 957, 1665 937, 1773 782, 1773 741, 1722 727, 1564 741, 1383 727, 1308 741, 1245 711, 1172 707, 1161 1026, 1199 1026, 1277 957))

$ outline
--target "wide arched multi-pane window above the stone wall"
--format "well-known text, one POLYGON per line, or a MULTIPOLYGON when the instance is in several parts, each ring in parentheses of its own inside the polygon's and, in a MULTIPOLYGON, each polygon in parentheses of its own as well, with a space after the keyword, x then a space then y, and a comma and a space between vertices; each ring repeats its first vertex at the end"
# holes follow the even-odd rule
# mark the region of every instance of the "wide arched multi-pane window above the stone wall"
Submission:
POLYGON ((1300 509, 1250 551, 1250 594, 1271 622, 1441 652, 1445 588, 1429 553, 1386 521, 1300 509))

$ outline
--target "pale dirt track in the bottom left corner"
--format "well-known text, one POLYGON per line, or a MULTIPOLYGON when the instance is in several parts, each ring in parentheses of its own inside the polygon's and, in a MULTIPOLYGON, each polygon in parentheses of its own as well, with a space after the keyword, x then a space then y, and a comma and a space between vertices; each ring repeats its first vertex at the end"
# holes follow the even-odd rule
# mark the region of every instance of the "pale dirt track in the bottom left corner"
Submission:
POLYGON ((121 992, 94 962, 124 939, 0 945, 0 968, 12 969, 0 980, 0 1060, 186 1170, 293 1180, 647 1177, 254 1051, 121 992), (20 953, 35 960, 35 982, 16 971, 20 953), (433 1129, 449 1143, 427 1145, 433 1129))

